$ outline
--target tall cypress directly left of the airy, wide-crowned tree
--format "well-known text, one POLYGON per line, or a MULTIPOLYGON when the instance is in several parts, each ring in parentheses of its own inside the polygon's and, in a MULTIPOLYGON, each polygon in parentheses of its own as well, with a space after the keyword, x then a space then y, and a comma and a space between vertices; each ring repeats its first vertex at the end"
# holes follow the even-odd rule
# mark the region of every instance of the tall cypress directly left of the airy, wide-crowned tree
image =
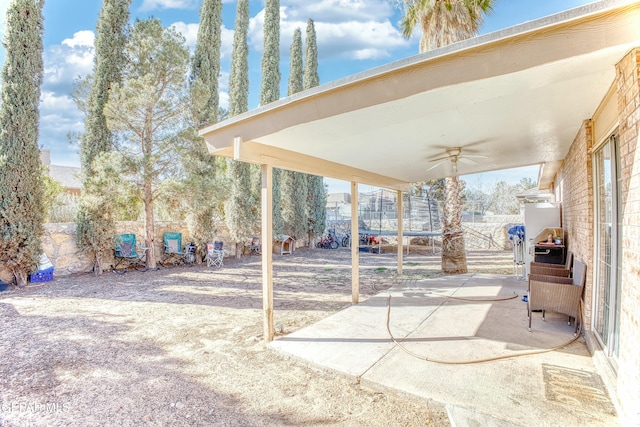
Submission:
MULTIPOLYGON (((78 246, 93 259, 94 273, 102 274, 102 262, 113 249, 115 212, 113 194, 104 191, 108 171, 98 170, 99 157, 113 150, 113 135, 107 127, 104 105, 109 90, 122 78, 125 63, 131 0, 105 0, 96 25, 93 83, 87 100, 85 134, 80 137, 82 195, 78 206, 76 236, 78 246)), ((101 165, 106 165, 100 162, 101 165)))

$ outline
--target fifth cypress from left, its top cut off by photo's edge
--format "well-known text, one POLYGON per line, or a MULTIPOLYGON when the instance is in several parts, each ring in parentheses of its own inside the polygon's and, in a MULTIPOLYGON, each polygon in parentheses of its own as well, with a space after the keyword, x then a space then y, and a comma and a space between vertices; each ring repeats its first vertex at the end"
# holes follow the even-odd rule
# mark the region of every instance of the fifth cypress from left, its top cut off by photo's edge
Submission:
MULTIPOLYGON (((266 0, 264 13, 264 52, 262 53, 262 82, 260 105, 280 98, 280 1, 266 0)), ((282 234, 282 201, 280 197, 280 169, 273 169, 273 234, 282 234)))

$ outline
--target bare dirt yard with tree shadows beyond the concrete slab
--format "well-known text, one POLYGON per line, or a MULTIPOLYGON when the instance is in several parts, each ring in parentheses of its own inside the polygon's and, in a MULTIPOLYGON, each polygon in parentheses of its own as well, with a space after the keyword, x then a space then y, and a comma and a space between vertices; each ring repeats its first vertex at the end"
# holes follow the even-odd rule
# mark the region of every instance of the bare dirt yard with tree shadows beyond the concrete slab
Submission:
MULTIPOLYGON (((469 269, 511 274, 512 259, 470 253, 469 269)), ((350 305, 349 260, 346 248, 274 256, 279 335, 350 305)), ((394 253, 360 264, 362 300, 397 281, 394 253)), ((439 256, 412 247, 404 270, 438 276, 439 256)), ((257 257, 12 288, 0 318, 0 426, 449 425, 442 406, 267 350, 257 257)))

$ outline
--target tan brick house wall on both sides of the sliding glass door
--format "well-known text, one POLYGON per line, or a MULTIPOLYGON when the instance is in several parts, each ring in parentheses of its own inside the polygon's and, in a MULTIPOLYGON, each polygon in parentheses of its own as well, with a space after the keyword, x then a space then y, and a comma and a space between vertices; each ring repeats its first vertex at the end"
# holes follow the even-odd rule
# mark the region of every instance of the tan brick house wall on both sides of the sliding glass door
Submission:
MULTIPOLYGON (((622 214, 622 268, 619 358, 612 374, 599 363, 601 374, 616 400, 622 425, 640 425, 640 48, 629 52, 616 66, 614 82, 618 111, 622 214)), ((555 177, 562 189, 562 226, 568 250, 588 265, 584 297, 584 329, 594 358, 599 348, 591 332, 593 318, 594 188, 591 149, 593 123, 587 120, 555 177)), ((597 255, 596 255, 597 256, 597 255)), ((600 353, 602 353, 600 351, 600 353)))

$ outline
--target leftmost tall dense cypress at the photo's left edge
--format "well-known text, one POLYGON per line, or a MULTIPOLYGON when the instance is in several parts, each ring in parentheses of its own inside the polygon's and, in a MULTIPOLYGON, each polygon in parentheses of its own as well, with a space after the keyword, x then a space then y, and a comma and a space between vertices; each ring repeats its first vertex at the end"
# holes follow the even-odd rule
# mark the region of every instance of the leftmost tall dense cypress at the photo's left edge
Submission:
POLYGON ((38 149, 43 79, 42 0, 14 0, 7 9, 0 106, 0 264, 20 287, 40 255, 44 182, 38 149))

